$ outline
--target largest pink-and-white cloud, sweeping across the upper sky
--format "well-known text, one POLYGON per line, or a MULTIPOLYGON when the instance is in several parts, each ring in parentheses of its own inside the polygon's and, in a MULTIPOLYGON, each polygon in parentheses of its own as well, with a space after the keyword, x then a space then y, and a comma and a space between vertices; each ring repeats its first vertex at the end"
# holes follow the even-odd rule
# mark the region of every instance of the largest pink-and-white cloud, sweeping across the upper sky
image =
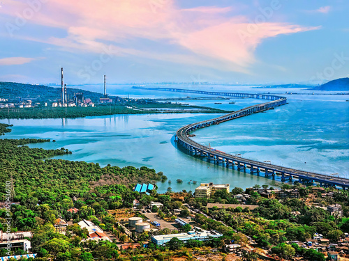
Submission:
MULTIPOLYGON (((18 33, 22 37, 70 52, 98 54, 112 46, 118 56, 170 59, 167 61, 246 73, 256 61, 255 49, 265 38, 316 29, 264 22, 252 24, 258 30, 248 33, 248 18, 229 17, 229 6, 181 9, 174 0, 61 0, 41 5, 28 22, 64 29, 66 36, 58 38, 49 30, 29 36, 21 30, 18 33), (241 31, 248 37, 242 39, 241 31)), ((30 8, 27 1, 9 1, 0 13, 15 18, 13 14, 21 14, 26 8, 30 8)))

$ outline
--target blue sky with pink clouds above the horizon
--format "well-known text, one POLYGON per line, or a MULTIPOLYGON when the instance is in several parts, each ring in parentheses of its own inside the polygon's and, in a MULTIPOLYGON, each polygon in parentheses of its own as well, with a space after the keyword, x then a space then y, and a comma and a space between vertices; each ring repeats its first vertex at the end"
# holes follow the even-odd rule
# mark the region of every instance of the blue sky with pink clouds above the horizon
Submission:
POLYGON ((0 81, 349 77, 348 0, 0 0, 0 81))

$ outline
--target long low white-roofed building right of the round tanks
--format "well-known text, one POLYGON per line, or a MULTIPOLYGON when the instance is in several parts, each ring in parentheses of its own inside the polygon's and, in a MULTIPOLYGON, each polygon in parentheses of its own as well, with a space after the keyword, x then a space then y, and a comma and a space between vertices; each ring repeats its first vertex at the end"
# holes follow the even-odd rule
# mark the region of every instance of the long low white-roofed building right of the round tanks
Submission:
POLYGON ((193 231, 189 231, 188 233, 152 236, 151 242, 162 246, 163 244, 169 242, 174 237, 177 237, 177 239, 183 242, 187 242, 189 239, 206 241, 206 240, 209 240, 211 237, 222 237, 222 236, 223 235, 221 233, 218 233, 214 230, 207 231, 207 230, 202 230, 201 228, 195 227, 193 231))

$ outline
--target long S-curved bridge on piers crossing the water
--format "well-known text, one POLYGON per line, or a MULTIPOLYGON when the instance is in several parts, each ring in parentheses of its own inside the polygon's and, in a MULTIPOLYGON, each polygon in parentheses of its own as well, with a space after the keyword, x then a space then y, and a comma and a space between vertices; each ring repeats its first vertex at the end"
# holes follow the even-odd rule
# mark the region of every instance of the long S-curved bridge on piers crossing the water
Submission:
POLYGON ((192 155, 198 157, 207 157, 207 161, 212 161, 216 164, 222 164, 229 168, 237 168, 237 171, 249 170, 251 174, 253 173, 264 173, 265 177, 280 175, 281 180, 293 180, 296 179, 300 183, 314 183, 318 182, 322 187, 335 187, 339 186, 343 189, 349 188, 349 179, 344 177, 332 177, 325 174, 313 173, 307 171, 297 170, 295 168, 287 168, 283 166, 278 166, 274 164, 267 164, 265 162, 254 161, 251 159, 244 159, 242 157, 237 157, 236 155, 230 155, 219 150, 209 148, 205 145, 201 145, 190 139, 191 132, 196 129, 201 129, 209 127, 211 125, 218 125, 221 122, 228 120, 234 120, 236 118, 241 118, 244 116, 251 115, 253 113, 259 113, 262 111, 267 111, 269 109, 274 109, 277 106, 286 104, 287 99, 285 97, 276 95, 266 95, 266 94, 251 94, 251 93, 222 93, 222 92, 209 92, 203 90, 186 90, 179 88, 149 88, 142 86, 134 86, 133 88, 146 89, 146 90, 163 90, 179 93, 198 93, 204 95, 221 95, 228 97, 248 97, 254 99, 271 100, 271 102, 265 102, 261 104, 256 104, 253 106, 248 106, 239 111, 234 111, 232 113, 225 114, 224 116, 213 118, 210 120, 202 120, 200 122, 195 122, 184 127, 181 127, 176 132, 176 141, 179 145, 183 146, 192 155))

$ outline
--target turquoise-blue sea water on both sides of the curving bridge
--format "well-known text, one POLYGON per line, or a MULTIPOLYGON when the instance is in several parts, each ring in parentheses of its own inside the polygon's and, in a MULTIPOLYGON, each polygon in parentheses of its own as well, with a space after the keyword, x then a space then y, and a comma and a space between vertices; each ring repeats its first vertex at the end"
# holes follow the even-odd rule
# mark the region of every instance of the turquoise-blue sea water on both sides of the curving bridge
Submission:
MULTIPOLYGON (((189 93, 167 93, 118 86, 113 95, 130 97, 214 97, 189 93)), ((172 88, 198 86, 172 85, 172 88)), ((203 90, 246 93, 283 93, 288 104, 265 113, 238 118, 195 132, 195 141, 246 159, 267 161, 317 173, 349 177, 349 102, 348 95, 288 95, 292 90, 264 90, 242 86, 200 86, 203 90)), ((297 90, 297 93, 310 93, 297 90)), ((237 110, 263 100, 191 100, 179 101, 218 109, 237 110), (235 104, 229 104, 235 102, 235 104)), ((158 191, 194 190, 200 182, 251 187, 254 184, 278 186, 279 177, 265 178, 211 164, 177 148, 174 134, 186 124, 221 116, 220 113, 161 113, 142 115, 98 116, 77 119, 1 120, 10 123, 8 139, 36 138, 56 142, 30 145, 45 149, 67 148, 72 155, 56 157, 101 166, 147 166, 168 176, 158 182, 158 191), (183 180, 177 183, 176 180, 183 180), (168 181, 171 181, 169 184, 168 181), (198 184, 193 184, 193 181, 198 184), (190 182, 190 184, 189 184, 190 182)))

